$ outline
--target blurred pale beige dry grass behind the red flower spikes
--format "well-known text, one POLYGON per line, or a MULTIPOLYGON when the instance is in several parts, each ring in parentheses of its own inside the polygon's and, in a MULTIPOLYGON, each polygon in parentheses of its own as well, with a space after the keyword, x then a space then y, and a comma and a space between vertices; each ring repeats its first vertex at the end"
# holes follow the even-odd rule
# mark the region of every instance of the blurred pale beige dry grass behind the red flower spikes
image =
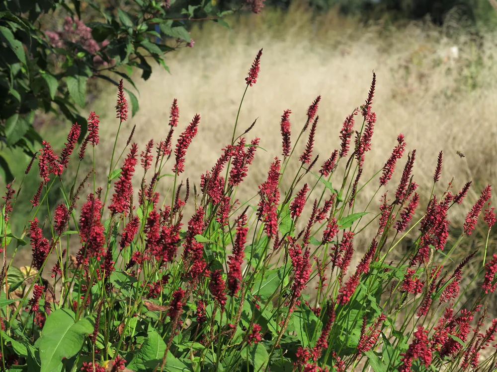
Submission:
MULTIPOLYGON (((114 2, 114 6, 119 4, 114 2)), ((217 3, 226 10, 235 6, 230 1, 217 3)), ((121 129, 118 152, 125 149, 133 125, 137 128, 133 140, 141 149, 151 138, 165 139, 170 105, 177 98, 178 129, 182 130, 195 113, 201 115, 183 174, 183 179, 188 177, 198 186, 200 175, 213 166, 221 148, 231 140, 244 79, 257 51, 263 48, 260 75, 248 89, 239 128, 244 130, 257 118, 248 138, 260 137, 260 146, 267 152, 257 150, 249 178, 237 192, 237 197, 246 200, 256 194, 274 156, 280 156, 283 111, 292 111, 292 133, 297 133, 305 123, 308 106, 322 96, 315 153, 324 161, 339 146, 345 117, 364 103, 374 70, 377 123, 362 179, 368 180, 381 169, 398 134, 403 133, 407 149, 417 150, 414 177, 426 206, 437 155, 443 150, 442 178, 435 194, 445 191, 452 178, 453 193, 473 180, 466 203, 451 208, 455 241, 481 190, 497 180, 494 5, 493 0, 266 0, 260 14, 248 11, 227 17, 230 29, 212 22, 191 22, 193 47, 168 54, 169 72, 154 65, 147 81, 134 76, 140 111, 121 129)), ((43 27, 60 28, 63 16, 50 17, 43 27)), ((81 113, 87 117, 95 111, 100 116, 101 143, 95 149, 95 168, 102 186, 119 124, 114 110, 116 95, 110 84, 94 83, 86 111, 81 113)), ((36 125, 55 149, 62 149, 70 123, 39 114, 36 125)), ((179 130, 175 138, 178 134, 179 130)), ((19 162, 15 176, 21 177, 29 158, 15 151, 4 155, 19 162)), ((296 171, 298 164, 294 165, 296 171)), ((390 188, 400 173, 398 169, 390 188)), ((292 169, 289 174, 293 175, 292 169)), ((292 177, 283 181, 283 188, 292 177)), ((27 195, 36 192, 38 182, 34 172, 28 176, 25 200, 17 203, 18 214, 12 220, 14 233, 22 232, 31 209, 27 195)), ((373 181, 371 187, 364 188, 358 198, 360 206, 368 203, 377 187, 378 182, 373 181)), ((165 182, 162 191, 167 189, 165 182)), ((60 192, 54 190, 51 197, 56 201, 60 192)), ((374 196, 371 210, 377 210, 379 197, 379 193, 374 196)), ((471 245, 485 246, 487 231, 480 224, 480 230, 461 246, 461 259, 471 245)), ((489 254, 496 251, 495 239, 491 236, 489 254)), ((18 255, 16 259, 30 262, 29 249, 24 258, 18 255)), ((459 262, 455 259, 452 264, 459 262)), ((477 260, 474 262, 476 265, 477 260)))

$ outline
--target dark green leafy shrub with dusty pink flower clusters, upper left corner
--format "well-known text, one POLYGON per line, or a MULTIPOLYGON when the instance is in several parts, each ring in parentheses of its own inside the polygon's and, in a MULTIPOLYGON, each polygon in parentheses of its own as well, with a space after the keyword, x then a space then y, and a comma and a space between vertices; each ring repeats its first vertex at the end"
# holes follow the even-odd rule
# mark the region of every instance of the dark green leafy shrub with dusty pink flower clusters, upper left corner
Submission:
MULTIPOLYGON (((141 69, 147 80, 151 60, 167 69, 165 54, 188 45, 189 22, 206 17, 217 21, 224 14, 198 0, 176 1, 170 7, 166 1, 152 0, 110 2, 105 7, 80 0, 0 2, 0 145, 33 155, 42 140, 33 129, 38 110, 80 124, 82 140, 86 120, 79 108, 85 106, 92 80, 117 85, 124 79, 135 87, 133 68, 141 69), (42 29, 46 17, 64 15, 69 17, 65 29, 42 29), (83 23, 86 18, 91 21, 83 23), (176 42, 156 44, 157 37, 164 36, 176 42)), ((138 99, 129 90, 127 96, 134 115, 138 99)), ((9 166, 0 157, 5 182, 13 178, 9 166)))

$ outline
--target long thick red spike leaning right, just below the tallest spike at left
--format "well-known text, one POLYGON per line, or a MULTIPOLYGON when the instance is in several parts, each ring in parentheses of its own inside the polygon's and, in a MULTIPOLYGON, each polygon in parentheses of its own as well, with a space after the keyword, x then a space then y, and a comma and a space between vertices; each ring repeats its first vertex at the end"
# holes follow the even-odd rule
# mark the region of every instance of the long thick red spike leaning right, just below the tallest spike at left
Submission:
POLYGON ((131 179, 135 173, 135 166, 137 163, 137 152, 138 147, 136 143, 131 145, 130 152, 124 164, 122 166, 121 175, 119 180, 114 184, 114 194, 112 195, 112 203, 109 205, 109 209, 113 214, 123 213, 126 216, 129 211, 129 203, 131 195, 133 194, 133 186, 131 185, 131 179))

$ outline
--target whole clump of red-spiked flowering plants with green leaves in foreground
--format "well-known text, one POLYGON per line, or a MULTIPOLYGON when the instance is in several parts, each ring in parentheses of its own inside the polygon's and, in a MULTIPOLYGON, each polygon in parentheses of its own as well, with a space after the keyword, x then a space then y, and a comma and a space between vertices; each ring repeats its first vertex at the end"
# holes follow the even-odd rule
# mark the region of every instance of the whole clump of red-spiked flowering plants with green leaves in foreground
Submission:
MULTIPOLYGON (((262 62, 261 49, 249 69, 244 97, 256 84, 262 62)), ((40 192, 33 197, 30 222, 19 237, 10 232, 9 217, 16 213, 15 201, 22 197, 16 190, 22 192, 23 180, 8 185, 4 196, 2 250, 29 243, 33 258, 29 267, 16 268, 13 256, 4 255, 0 368, 495 371, 497 319, 489 321, 486 308, 495 301, 497 255, 485 247, 483 275, 473 279, 482 280, 473 286, 462 283, 465 266, 476 252, 468 252, 453 272, 443 268, 481 214, 490 232, 495 213, 483 209, 491 187, 468 208, 464 230, 449 246, 447 211, 463 201, 470 185, 457 193, 450 185, 439 185, 442 153, 430 201, 417 221, 415 150, 407 155, 399 184, 391 180, 407 151, 402 134, 385 166, 369 180, 361 178, 376 123, 375 85, 373 75, 365 103, 345 119, 341 145, 325 161, 318 162, 313 151, 321 97, 309 106, 300 128, 285 111, 282 150, 275 154, 267 180, 254 190, 255 202, 235 197, 254 156, 264 151, 263 140, 246 137, 254 125, 238 127, 240 111, 231 143, 202 175, 199 188, 191 187, 182 174, 188 147, 199 140, 195 137, 201 117, 193 117, 173 147, 176 100, 165 141, 151 140, 141 155, 132 136, 124 149, 115 145, 113 154, 122 150, 126 156, 112 155, 104 187, 91 182, 91 171, 76 175, 69 190, 62 182, 71 156, 71 161, 81 162, 98 145, 95 113, 89 114, 88 133, 79 149, 78 124, 72 126, 60 155, 46 143, 38 164, 40 192), (307 145, 298 156, 295 146, 305 137, 307 145), (290 162, 300 164, 296 174, 285 172, 290 162), (138 198, 133 197, 135 176, 142 180, 138 198), (281 190, 286 177, 293 182, 281 190), (165 180, 172 188, 160 195, 156 189, 165 180), (47 192, 57 186, 64 201, 50 205, 47 192), (386 192, 387 186, 395 192, 386 192), (356 205, 365 187, 375 187, 382 195, 379 211, 356 205), (79 215, 78 198, 83 204, 79 215), (188 222, 183 217, 187 203, 195 210, 188 222), (52 216, 47 237, 37 220, 42 208, 52 216), (304 210, 310 217, 299 224, 304 210), (359 254, 354 241, 366 226, 375 233, 359 254), (392 260, 401 242, 415 231, 410 251, 392 260), (70 244, 72 235, 79 237, 76 247, 70 244), (48 267, 51 256, 56 263, 48 267), (356 268, 350 267, 353 259, 356 268), (465 300, 470 287, 478 290, 465 300)), ((128 119, 123 80, 116 111, 121 128, 128 119)))

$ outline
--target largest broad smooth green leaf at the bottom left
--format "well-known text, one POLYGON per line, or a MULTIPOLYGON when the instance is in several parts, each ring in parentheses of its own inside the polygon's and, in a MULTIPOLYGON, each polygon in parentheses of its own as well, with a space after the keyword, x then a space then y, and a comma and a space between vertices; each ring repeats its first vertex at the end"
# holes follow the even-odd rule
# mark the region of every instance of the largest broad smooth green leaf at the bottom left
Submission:
POLYGON ((60 371, 62 358, 75 356, 83 346, 84 336, 94 330, 88 318, 76 321, 76 315, 68 309, 52 312, 45 321, 41 337, 35 346, 40 350, 40 372, 60 371))

